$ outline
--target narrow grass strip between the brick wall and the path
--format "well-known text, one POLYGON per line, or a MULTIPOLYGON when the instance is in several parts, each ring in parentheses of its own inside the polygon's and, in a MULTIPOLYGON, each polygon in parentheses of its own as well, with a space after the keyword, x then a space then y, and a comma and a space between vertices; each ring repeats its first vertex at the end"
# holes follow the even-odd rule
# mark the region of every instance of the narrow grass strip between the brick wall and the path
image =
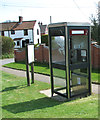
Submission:
MULTIPOLYGON (((26 65, 23 62, 9 63, 9 64, 4 65, 4 67, 9 67, 9 68, 18 69, 18 70, 26 70, 26 65)), ((34 71, 37 72, 37 73, 50 75, 50 69, 49 69, 48 64, 35 63, 34 71)), ((62 70, 60 70, 59 75, 65 76, 65 74, 62 70)), ((92 78, 92 82, 100 83, 100 72, 98 73, 97 70, 93 70, 92 73, 91 73, 91 78, 92 78)))

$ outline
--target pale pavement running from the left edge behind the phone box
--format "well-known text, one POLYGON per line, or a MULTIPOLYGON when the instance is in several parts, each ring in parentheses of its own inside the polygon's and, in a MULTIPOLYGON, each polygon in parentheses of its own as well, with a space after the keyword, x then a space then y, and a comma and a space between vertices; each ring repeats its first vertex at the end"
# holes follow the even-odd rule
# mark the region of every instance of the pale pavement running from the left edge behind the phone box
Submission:
MULTIPOLYGON (((10 62, 14 62, 14 59, 4 59, 4 60, 1 60, 0 62, 2 62, 1 65, 4 65, 10 62)), ((26 77, 26 71, 20 71, 20 70, 5 68, 5 67, 1 67, 0 69, 10 74, 14 74, 20 77, 26 77)), ((34 79, 38 81, 50 83, 50 76, 34 73, 34 79)), ((92 84, 92 93, 100 94, 100 85, 92 84)))

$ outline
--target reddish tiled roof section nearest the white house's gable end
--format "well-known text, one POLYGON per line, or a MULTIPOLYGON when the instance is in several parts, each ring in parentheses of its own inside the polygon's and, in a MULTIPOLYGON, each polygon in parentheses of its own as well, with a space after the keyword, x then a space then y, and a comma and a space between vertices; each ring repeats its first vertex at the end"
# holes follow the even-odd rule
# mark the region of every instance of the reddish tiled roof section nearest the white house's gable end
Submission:
POLYGON ((34 28, 36 21, 26 21, 18 24, 13 30, 24 30, 34 28))

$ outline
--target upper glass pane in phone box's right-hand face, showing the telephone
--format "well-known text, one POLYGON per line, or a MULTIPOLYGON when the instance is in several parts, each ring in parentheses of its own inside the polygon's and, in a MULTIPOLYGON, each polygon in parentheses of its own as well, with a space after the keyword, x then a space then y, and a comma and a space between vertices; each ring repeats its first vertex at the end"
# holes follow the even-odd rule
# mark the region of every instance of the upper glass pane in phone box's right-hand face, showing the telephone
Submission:
POLYGON ((70 37, 71 64, 87 62, 88 36, 74 35, 70 37))

